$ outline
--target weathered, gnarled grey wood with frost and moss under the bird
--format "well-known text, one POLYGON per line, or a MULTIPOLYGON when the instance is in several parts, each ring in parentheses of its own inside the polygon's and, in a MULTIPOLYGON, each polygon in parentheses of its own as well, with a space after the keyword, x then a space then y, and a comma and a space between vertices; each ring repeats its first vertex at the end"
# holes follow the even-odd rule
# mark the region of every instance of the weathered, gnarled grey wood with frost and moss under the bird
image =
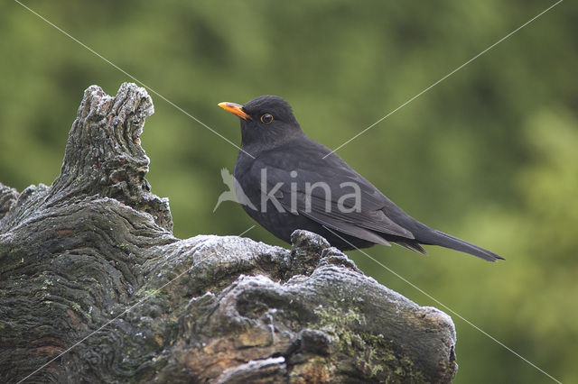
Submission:
POLYGON ((452 380, 452 319, 322 237, 175 238, 144 178, 153 112, 89 87, 51 187, 0 184, 0 381, 452 380))

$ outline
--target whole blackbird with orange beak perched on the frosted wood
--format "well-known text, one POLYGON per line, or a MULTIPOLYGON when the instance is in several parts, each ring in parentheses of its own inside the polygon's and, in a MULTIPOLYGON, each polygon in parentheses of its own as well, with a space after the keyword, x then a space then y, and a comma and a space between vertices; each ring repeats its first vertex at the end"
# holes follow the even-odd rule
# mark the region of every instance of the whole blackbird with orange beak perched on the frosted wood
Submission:
POLYGON ((238 201, 285 242, 303 229, 321 234, 341 251, 393 242, 421 253, 421 244, 440 245, 487 261, 503 260, 407 215, 336 153, 307 137, 282 97, 219 106, 240 117, 241 147, 233 172, 238 201))

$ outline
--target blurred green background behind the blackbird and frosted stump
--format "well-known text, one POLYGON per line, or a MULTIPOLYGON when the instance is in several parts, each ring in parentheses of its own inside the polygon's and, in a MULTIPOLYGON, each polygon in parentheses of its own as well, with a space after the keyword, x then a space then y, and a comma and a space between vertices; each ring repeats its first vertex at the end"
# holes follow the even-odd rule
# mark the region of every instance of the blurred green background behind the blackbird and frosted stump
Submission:
MULTIPOLYGON (((43 17, 239 142, 217 107, 284 96, 312 139, 339 146, 539 14, 529 2, 27 1, 43 17)), ((578 382, 578 7, 564 2, 339 151, 416 218, 496 251, 368 253, 557 379, 578 382)), ((60 172, 86 87, 131 78, 14 2, 0 3, 0 181, 60 172)), ((174 233, 238 234, 220 169, 237 149, 154 96, 143 146, 174 233)), ((262 228, 247 236, 286 246, 262 228)), ((438 306, 360 252, 360 268, 438 306)), ((442 308, 443 309, 443 308, 442 308)), ((447 312, 447 311, 446 311, 447 312)), ((471 325, 456 383, 552 382, 471 325)))

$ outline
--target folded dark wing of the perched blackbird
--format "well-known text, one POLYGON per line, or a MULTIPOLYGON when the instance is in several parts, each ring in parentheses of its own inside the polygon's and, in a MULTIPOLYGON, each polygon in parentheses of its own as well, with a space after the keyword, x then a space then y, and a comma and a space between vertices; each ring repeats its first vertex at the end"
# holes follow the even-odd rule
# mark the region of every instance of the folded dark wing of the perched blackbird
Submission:
POLYGON ((415 238, 413 233, 387 215, 388 210, 394 215, 406 215, 400 208, 336 154, 323 160, 324 153, 320 150, 329 150, 321 144, 312 143, 316 145, 277 148, 258 156, 249 173, 254 177, 259 175, 259 180, 253 182, 258 182, 260 189, 266 185, 267 190, 261 190, 261 193, 267 194, 276 187, 275 198, 286 210, 305 215, 341 232, 345 232, 344 227, 347 226, 358 227, 363 232, 369 230, 406 239, 415 238), (265 184, 262 184, 264 174, 261 169, 266 169, 265 184), (292 175, 292 171, 297 174, 292 175), (315 183, 327 186, 329 192, 319 184, 319 187, 312 187, 315 183), (352 183, 357 187, 353 187, 352 183))

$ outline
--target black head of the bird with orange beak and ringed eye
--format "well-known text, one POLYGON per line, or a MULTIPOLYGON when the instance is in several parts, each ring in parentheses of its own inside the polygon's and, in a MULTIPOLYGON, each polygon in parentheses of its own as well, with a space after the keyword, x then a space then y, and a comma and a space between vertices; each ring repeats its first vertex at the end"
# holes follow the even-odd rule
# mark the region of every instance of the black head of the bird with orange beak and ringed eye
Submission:
POLYGON ((241 147, 274 148, 302 133, 291 105, 280 96, 258 96, 245 105, 219 103, 241 119, 241 147))

